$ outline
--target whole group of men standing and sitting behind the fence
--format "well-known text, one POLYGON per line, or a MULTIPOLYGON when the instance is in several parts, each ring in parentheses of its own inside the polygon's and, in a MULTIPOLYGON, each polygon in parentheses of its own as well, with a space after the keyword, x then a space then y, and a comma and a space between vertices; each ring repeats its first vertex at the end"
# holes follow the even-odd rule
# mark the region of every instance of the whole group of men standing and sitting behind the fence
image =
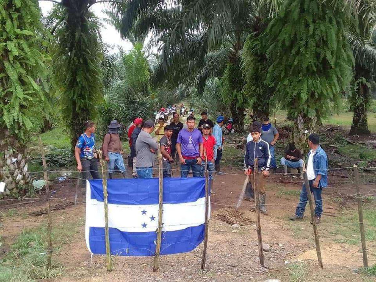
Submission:
MULTIPOLYGON (((214 194, 212 190, 214 171, 221 174, 220 160, 223 153, 222 125, 224 117, 218 116, 217 123, 214 125, 208 118, 208 113, 202 112, 202 119, 197 128, 196 118, 193 115, 187 117, 186 128, 179 121, 179 118, 179 114, 175 112, 170 124, 165 125, 161 121, 158 126, 155 126, 152 120, 133 119, 133 124, 128 129, 130 156, 133 158, 130 162, 133 164, 132 175, 138 178, 153 177, 153 164, 159 147, 157 141, 151 135, 155 130, 163 158, 163 177, 171 177, 173 174, 171 163, 178 159, 181 177, 188 177, 190 170, 192 170, 193 177, 202 177, 207 169, 211 193, 214 194)), ((86 121, 84 127, 85 132, 78 138, 75 149, 77 169, 82 171, 84 179, 88 179, 89 174, 92 175, 93 179, 98 179, 98 162, 94 157, 96 126, 93 121, 86 121)), ((121 125, 116 120, 111 121, 108 126, 108 133, 103 139, 102 150, 105 160, 108 161, 109 178, 112 178, 115 166, 126 177, 126 168, 121 156, 122 146, 118 135, 120 127, 121 125)), ((265 207, 266 177, 270 169, 276 167, 274 145, 277 139, 278 132, 270 124, 269 118, 264 118, 263 124, 255 121, 247 137, 244 174, 250 176, 250 182, 246 188, 246 199, 253 200, 255 197, 259 197, 260 211, 263 214, 267 214, 265 207), (255 159, 258 159, 257 166, 255 159), (256 170, 260 173, 256 174, 256 170), (256 175, 258 175, 258 187, 255 195, 252 183, 254 183, 256 175)), ((319 141, 317 134, 309 135, 308 146, 311 150, 308 153, 306 166, 310 190, 315 199, 316 224, 320 222, 323 212, 322 188, 327 187, 327 156, 320 147, 319 141)), ((281 164, 284 166, 285 174, 287 174, 287 167, 303 167, 302 153, 294 144, 289 145, 285 157, 281 159, 281 164)), ((306 187, 303 183, 299 204, 295 214, 290 218, 291 220, 303 218, 307 200, 306 187)))

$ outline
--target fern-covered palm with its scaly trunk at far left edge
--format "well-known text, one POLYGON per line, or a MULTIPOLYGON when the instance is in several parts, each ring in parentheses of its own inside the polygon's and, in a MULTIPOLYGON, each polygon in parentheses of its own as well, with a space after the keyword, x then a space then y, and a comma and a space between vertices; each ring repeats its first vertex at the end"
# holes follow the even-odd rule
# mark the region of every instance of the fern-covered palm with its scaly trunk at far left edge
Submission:
POLYGON ((0 0, 0 181, 28 192, 27 142, 41 124, 46 83, 44 30, 36 0, 0 0))

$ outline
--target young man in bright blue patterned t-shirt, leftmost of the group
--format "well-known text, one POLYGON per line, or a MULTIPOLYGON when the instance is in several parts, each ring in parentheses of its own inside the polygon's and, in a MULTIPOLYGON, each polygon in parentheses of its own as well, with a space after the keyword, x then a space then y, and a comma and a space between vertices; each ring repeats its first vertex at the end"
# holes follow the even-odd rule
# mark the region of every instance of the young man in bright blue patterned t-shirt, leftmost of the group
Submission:
MULTIPOLYGON (((89 179, 90 174, 93 179, 99 179, 98 159, 94 158, 95 136, 94 132, 96 126, 94 121, 87 120, 83 124, 85 132, 83 132, 77 140, 74 148, 74 157, 77 161, 77 170, 82 172, 83 179, 89 179)), ((83 185, 86 185, 83 180, 83 185)))

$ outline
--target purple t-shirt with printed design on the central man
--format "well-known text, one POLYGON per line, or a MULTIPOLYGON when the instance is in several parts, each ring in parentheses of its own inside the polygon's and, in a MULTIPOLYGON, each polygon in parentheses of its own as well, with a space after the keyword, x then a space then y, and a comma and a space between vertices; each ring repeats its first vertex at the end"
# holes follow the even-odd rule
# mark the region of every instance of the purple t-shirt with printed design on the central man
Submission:
POLYGON ((182 156, 186 157, 198 157, 200 156, 200 143, 202 143, 202 135, 200 130, 183 129, 177 135, 176 143, 180 143, 182 146, 182 156))

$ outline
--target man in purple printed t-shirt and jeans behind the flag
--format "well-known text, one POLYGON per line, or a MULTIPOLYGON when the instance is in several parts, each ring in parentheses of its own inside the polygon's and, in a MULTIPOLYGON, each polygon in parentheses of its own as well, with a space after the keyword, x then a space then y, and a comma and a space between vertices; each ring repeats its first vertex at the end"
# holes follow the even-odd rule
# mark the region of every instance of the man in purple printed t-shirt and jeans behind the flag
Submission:
POLYGON ((201 162, 203 159, 203 144, 200 130, 195 129, 196 118, 187 118, 187 128, 177 135, 176 150, 180 159, 181 176, 187 177, 192 167, 193 177, 200 177, 201 162))

